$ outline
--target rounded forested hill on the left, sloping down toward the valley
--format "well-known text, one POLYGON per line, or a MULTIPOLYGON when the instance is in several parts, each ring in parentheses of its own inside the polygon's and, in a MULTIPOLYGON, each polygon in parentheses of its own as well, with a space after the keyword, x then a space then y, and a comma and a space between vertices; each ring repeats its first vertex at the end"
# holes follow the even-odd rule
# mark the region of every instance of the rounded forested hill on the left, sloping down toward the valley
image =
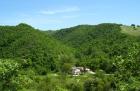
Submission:
POLYGON ((58 70, 58 57, 72 55, 72 50, 49 35, 27 24, 0 26, 0 58, 26 59, 42 74, 58 70))

